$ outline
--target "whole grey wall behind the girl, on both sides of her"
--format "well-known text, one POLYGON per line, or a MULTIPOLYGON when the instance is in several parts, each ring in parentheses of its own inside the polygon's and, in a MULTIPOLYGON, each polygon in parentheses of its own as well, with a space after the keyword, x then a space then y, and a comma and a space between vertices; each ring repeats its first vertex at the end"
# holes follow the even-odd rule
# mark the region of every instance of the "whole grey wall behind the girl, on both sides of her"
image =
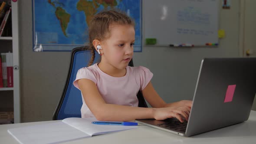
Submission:
MULTIPOLYGON (((66 82, 70 52, 33 52, 32 2, 19 4, 21 121, 51 120, 66 82)), ((226 37, 218 48, 144 46, 135 53, 134 63, 151 69, 154 88, 165 101, 192 99, 201 59, 239 56, 239 0, 232 1, 230 10, 220 10, 220 29, 226 37)))

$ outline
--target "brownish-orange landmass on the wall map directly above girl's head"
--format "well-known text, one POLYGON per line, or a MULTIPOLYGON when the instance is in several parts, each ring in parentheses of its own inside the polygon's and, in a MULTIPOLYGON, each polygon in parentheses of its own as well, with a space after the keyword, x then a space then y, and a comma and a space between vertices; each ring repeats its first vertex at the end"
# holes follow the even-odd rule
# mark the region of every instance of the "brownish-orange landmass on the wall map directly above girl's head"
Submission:
POLYGON ((89 25, 92 20, 93 15, 97 13, 97 8, 102 5, 104 8, 115 7, 117 6, 116 0, 79 0, 76 5, 76 9, 79 11, 83 11, 86 16, 86 23, 89 25))

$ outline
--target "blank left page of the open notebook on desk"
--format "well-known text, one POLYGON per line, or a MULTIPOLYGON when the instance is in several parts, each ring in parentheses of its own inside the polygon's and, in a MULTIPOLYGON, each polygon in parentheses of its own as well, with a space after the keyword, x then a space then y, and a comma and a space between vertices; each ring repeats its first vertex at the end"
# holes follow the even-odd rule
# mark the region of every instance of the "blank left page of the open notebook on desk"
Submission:
POLYGON ((62 121, 12 128, 8 132, 21 144, 50 144, 91 137, 62 121))

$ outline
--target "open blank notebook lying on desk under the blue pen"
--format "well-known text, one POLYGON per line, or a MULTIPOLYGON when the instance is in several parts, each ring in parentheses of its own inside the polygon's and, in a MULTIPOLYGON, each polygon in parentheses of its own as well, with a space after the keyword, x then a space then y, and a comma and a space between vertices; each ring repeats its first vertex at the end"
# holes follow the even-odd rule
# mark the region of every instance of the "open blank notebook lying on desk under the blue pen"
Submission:
POLYGON ((138 128, 137 126, 92 124, 96 118, 66 118, 49 124, 37 124, 8 129, 20 144, 52 144, 106 134, 115 131, 138 128))

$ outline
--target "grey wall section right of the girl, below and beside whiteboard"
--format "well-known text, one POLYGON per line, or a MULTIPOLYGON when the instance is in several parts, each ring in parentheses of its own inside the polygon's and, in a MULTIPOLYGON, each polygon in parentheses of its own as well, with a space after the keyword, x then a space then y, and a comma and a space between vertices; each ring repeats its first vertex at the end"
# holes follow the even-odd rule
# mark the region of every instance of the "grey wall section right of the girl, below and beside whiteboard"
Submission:
POLYGON ((220 39, 218 48, 144 46, 143 52, 135 53, 135 65, 144 65, 154 73, 152 83, 165 101, 192 100, 204 57, 239 56, 239 8, 239 1, 235 0, 230 10, 220 9, 219 28, 225 30, 226 36, 220 39))

